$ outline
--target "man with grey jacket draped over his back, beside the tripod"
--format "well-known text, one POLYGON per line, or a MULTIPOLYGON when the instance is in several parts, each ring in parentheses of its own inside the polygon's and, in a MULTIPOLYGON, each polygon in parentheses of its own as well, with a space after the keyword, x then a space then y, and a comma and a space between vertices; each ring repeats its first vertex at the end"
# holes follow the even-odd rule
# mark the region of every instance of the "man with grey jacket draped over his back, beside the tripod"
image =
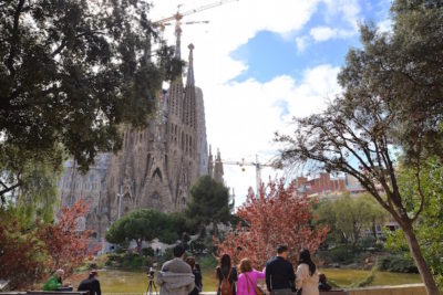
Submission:
POLYGON ((195 286, 190 266, 183 261, 185 247, 174 247, 174 259, 165 262, 157 274, 159 295, 188 295, 195 286))

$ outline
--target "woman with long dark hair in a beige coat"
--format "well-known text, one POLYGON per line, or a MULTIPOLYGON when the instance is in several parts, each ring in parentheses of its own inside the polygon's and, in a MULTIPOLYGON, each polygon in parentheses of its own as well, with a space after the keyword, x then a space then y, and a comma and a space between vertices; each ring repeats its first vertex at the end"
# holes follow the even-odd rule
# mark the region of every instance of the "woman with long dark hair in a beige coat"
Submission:
POLYGON ((301 289, 301 295, 319 295, 318 289, 319 274, 316 264, 311 260, 309 250, 300 252, 297 267, 297 289, 301 289))

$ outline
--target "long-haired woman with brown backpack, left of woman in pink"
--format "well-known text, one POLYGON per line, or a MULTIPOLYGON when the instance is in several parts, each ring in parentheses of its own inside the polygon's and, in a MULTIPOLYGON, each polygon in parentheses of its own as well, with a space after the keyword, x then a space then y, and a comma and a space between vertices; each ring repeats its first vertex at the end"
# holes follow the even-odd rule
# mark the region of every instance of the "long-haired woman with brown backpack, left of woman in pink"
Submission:
POLYGON ((229 254, 223 254, 216 268, 217 295, 236 295, 237 270, 230 264, 229 254))

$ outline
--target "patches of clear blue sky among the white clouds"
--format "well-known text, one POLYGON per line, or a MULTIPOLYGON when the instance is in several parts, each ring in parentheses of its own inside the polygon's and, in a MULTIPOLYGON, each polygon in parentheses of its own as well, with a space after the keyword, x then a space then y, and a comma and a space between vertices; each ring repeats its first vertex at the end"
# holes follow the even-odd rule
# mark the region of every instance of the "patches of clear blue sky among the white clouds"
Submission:
MULTIPOLYGON (((374 23, 387 20, 389 15, 389 1, 359 1, 361 7, 360 21, 374 23)), ((248 43, 231 53, 234 60, 243 61, 248 70, 236 76, 234 81, 243 82, 255 78, 261 83, 272 80, 278 75, 290 75, 300 78, 303 69, 319 64, 342 66, 346 54, 350 48, 360 48, 357 32, 348 38, 333 38, 326 41, 309 42, 307 48, 297 48, 296 38, 308 36, 313 28, 328 27, 341 30, 354 30, 352 23, 341 14, 328 14, 324 3, 317 7, 303 28, 292 32, 290 38, 270 31, 259 31, 248 43)))

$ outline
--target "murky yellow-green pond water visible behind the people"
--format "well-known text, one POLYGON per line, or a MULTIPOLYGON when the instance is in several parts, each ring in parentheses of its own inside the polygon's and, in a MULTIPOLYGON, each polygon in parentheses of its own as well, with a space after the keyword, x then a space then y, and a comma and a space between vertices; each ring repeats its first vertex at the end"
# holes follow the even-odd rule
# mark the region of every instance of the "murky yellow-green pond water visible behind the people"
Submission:
MULTIPOLYGON (((322 268, 320 271, 327 275, 329 281, 340 287, 348 287, 369 275, 369 271, 359 270, 322 268)), ((99 277, 103 293, 145 293, 148 284, 146 273, 141 271, 102 270, 99 271, 99 277)), ((371 285, 402 285, 420 282, 421 278, 418 274, 377 272, 371 285)), ((78 280, 72 284, 78 286, 78 280)), ((203 288, 207 292, 215 291, 216 280, 213 270, 204 271, 203 288)))

